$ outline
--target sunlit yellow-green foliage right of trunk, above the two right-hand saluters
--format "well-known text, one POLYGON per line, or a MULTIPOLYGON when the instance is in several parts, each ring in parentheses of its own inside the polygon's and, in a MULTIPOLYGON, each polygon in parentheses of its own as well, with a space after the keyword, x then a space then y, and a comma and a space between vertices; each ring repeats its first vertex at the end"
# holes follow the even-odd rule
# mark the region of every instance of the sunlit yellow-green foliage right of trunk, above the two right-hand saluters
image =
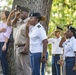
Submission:
POLYGON ((65 25, 76 24, 76 0, 53 0, 48 34, 50 34, 56 26, 64 28, 65 25))

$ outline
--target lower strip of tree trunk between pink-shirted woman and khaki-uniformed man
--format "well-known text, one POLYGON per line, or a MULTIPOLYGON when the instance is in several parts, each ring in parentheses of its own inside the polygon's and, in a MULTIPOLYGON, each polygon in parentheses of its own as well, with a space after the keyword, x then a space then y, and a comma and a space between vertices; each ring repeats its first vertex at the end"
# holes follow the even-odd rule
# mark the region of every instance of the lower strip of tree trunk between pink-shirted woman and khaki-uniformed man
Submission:
POLYGON ((15 56, 14 56, 13 32, 12 32, 12 34, 10 36, 10 39, 9 39, 7 60, 8 60, 9 75, 16 75, 16 73, 15 73, 15 56))

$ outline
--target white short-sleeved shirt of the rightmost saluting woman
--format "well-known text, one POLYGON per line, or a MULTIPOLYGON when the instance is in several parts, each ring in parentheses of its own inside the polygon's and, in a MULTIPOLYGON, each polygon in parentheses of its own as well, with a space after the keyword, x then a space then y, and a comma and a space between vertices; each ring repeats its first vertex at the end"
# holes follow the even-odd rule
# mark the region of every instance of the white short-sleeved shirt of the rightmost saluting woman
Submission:
POLYGON ((76 39, 74 37, 71 37, 70 39, 66 40, 63 43, 64 48, 64 56, 65 57, 74 57, 76 51, 76 39))

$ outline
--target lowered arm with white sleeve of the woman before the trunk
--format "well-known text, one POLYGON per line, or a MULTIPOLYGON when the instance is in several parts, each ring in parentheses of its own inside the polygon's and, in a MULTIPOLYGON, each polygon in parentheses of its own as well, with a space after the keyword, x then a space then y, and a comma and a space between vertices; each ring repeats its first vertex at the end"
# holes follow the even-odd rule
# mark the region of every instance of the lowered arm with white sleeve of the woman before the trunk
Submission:
POLYGON ((43 27, 38 27, 38 36, 40 38, 40 41, 43 44, 43 52, 41 55, 41 62, 46 62, 46 52, 47 52, 47 44, 48 44, 48 40, 47 40, 47 35, 46 35, 46 31, 43 27))

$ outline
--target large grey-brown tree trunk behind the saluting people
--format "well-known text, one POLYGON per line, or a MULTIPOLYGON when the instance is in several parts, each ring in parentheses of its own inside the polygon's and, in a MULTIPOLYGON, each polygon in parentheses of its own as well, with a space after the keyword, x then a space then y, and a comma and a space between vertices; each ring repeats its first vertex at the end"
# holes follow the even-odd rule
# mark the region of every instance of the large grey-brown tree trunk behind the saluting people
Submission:
MULTIPOLYGON (((50 10, 53 0, 14 0, 13 8, 15 5, 20 5, 24 7, 28 7, 31 9, 31 12, 40 12, 42 15, 46 17, 46 21, 43 23, 44 28, 48 31, 48 23, 50 18, 50 10)), ((10 44, 8 50, 8 61, 9 61, 9 75, 15 75, 15 67, 14 67, 14 49, 13 44, 10 44)))

